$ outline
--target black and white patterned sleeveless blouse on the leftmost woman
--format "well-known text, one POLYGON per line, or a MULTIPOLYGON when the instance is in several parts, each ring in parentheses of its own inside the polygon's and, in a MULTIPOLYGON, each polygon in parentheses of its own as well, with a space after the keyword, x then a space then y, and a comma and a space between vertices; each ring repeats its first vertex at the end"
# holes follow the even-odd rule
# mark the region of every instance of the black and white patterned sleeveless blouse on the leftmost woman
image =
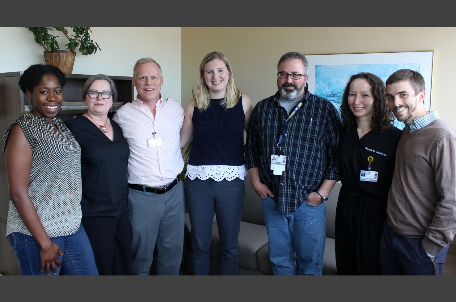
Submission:
MULTIPOLYGON (((27 193, 49 237, 74 234, 81 222, 81 148, 63 121, 52 118, 60 133, 42 116, 21 113, 3 137, 3 154, 11 128, 19 124, 32 150, 27 193)), ((31 235, 10 201, 6 237, 31 235)))

